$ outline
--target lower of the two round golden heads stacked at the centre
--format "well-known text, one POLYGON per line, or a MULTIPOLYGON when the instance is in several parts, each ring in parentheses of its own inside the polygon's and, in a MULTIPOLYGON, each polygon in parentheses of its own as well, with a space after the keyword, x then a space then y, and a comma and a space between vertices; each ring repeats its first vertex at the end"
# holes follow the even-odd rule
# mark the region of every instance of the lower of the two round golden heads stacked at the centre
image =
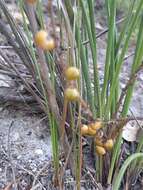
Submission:
POLYGON ((78 101, 80 98, 80 95, 76 88, 67 88, 65 90, 65 98, 68 101, 78 101))

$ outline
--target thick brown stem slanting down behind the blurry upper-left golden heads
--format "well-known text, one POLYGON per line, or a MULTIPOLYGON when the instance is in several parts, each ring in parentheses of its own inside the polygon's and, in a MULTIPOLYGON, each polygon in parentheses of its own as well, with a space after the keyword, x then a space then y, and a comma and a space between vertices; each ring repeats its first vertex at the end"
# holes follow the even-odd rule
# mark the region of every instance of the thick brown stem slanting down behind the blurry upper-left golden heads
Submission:
MULTIPOLYGON (((36 21, 36 17, 35 17, 35 12, 34 12, 34 7, 33 6, 29 6, 28 4, 26 5, 27 8, 27 12, 29 15, 29 21, 30 21, 30 25, 31 25, 31 30, 33 35, 35 35, 35 33, 37 32, 38 26, 37 26, 37 21, 36 21)), ((42 81, 44 81, 43 85, 45 86, 45 90, 48 96, 48 103, 49 103, 49 108, 50 111, 54 114, 55 119, 57 121, 57 124, 59 125, 58 127, 58 132, 59 132, 59 136, 61 138, 62 136, 62 128, 61 128, 61 116, 59 113, 59 107, 56 101, 56 96, 54 93, 54 90, 52 88, 52 84, 49 78, 49 69, 46 63, 46 59, 45 59, 45 55, 43 50, 41 50, 40 48, 37 47, 37 53, 39 56, 39 69, 40 69, 40 74, 42 77, 42 81)), ((61 143, 61 142, 60 142, 61 143)), ((63 139, 63 145, 61 145, 64 147, 64 153, 65 156, 68 154, 69 151, 69 142, 68 142, 68 138, 67 135, 64 136, 63 139)), ((72 161, 72 157, 70 157, 70 165, 71 165, 71 169, 73 169, 73 161, 72 161)))

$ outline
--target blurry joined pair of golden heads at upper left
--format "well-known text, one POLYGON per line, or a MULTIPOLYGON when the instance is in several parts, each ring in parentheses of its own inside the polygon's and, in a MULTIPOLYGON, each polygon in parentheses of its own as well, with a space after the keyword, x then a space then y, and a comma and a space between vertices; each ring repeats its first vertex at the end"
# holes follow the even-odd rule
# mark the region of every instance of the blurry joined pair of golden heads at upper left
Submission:
POLYGON ((35 34, 35 43, 43 50, 51 51, 55 48, 54 39, 48 40, 48 33, 45 30, 40 30, 35 34))

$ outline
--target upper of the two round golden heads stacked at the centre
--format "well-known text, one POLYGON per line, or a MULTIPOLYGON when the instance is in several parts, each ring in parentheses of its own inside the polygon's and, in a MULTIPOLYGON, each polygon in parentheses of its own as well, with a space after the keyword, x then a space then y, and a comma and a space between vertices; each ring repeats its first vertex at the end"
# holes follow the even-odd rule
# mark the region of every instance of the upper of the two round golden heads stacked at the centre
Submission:
POLYGON ((65 71, 65 77, 67 80, 77 80, 80 77, 79 69, 76 67, 69 67, 65 71))

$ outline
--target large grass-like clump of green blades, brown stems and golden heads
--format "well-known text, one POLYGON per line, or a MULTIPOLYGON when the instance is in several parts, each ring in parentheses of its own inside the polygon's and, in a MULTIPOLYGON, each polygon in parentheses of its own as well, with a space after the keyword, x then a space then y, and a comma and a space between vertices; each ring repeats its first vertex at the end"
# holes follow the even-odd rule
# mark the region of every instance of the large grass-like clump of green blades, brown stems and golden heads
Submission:
POLYGON ((9 24, 9 28, 2 27, 0 21, 0 32, 23 61, 33 82, 23 77, 11 62, 8 62, 8 67, 48 116, 53 184, 63 189, 64 172, 69 166, 76 189, 80 190, 82 171, 86 168, 82 142, 88 137, 92 140, 91 150, 95 158, 95 180, 102 186, 111 185, 118 190, 126 170, 128 178, 132 179, 142 166, 142 138, 134 154, 122 166, 120 153, 122 129, 133 119, 127 114, 134 84, 137 74, 143 69, 143 1, 128 2, 122 27, 118 27, 117 1, 105 1, 108 29, 100 35, 96 32, 96 1, 56 2, 55 11, 52 1, 48 1, 46 15, 50 24, 47 27, 42 1, 19 0, 23 17, 21 29, 4 0, 0 1, 1 12, 9 24), (119 76, 135 30, 136 47, 130 78, 120 93, 119 76), (105 33, 104 79, 100 81, 97 39, 105 33), (64 165, 60 165, 61 153, 64 154, 64 165))

